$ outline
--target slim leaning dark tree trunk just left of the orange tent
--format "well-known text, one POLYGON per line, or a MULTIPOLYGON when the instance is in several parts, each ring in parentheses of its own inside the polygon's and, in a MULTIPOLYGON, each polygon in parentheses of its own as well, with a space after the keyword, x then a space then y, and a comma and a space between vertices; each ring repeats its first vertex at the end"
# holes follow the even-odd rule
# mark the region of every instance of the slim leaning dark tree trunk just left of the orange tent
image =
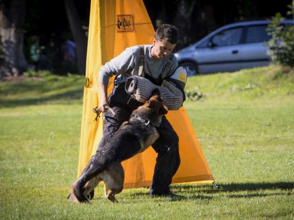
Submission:
POLYGON ((78 58, 78 72, 83 75, 86 72, 87 40, 82 30, 82 22, 78 15, 73 0, 64 0, 65 10, 69 27, 76 43, 76 52, 78 58))

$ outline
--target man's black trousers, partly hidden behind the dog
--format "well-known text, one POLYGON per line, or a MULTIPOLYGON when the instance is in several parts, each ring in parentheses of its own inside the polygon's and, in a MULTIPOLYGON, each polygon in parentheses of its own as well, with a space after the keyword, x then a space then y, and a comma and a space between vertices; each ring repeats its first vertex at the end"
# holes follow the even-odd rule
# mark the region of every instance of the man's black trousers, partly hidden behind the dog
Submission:
MULTIPOLYGON (((125 92, 124 86, 115 87, 108 102, 117 117, 114 118, 110 111, 104 114, 103 138, 98 145, 98 149, 104 145, 107 139, 112 137, 123 122, 129 120, 131 112, 142 105, 142 103, 130 98, 130 95, 125 92)), ((171 179, 180 165, 179 138, 165 116, 163 116, 157 131, 160 137, 153 143, 152 147, 158 153, 158 156, 150 186, 150 195, 167 194, 170 191, 171 179)))

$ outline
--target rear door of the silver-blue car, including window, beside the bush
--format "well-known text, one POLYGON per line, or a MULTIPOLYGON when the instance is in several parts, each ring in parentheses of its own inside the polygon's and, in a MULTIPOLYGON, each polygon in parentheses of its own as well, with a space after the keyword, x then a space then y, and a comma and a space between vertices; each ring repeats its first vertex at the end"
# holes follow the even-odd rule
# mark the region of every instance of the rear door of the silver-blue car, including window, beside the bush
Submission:
POLYGON ((242 44, 242 68, 266 66, 269 64, 268 47, 264 45, 270 39, 266 25, 248 26, 245 29, 244 44, 242 44))

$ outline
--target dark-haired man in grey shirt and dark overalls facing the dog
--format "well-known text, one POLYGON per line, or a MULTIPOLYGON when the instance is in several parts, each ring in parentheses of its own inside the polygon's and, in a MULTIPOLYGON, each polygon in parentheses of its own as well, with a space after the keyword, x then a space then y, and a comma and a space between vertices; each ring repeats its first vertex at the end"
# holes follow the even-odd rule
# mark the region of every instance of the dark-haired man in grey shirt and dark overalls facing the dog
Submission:
MULTIPOLYGON (((104 112, 105 123, 103 138, 99 146, 102 146, 105 140, 111 138, 120 125, 129 119, 132 110, 142 105, 142 103, 132 99, 125 91, 127 78, 137 75, 144 76, 151 84, 161 86, 163 80, 171 76, 178 66, 176 58, 171 54, 177 41, 177 28, 172 25, 162 25, 156 31, 153 45, 127 48, 122 54, 101 67, 99 72, 99 110, 104 112), (140 70, 140 55, 142 56, 142 53, 144 61, 143 69, 140 70), (167 64, 168 62, 169 64, 167 64), (165 68, 167 65, 168 67, 165 68), (163 76, 163 72, 165 76, 163 76), (116 75, 115 86, 109 98, 107 98, 108 80, 114 74, 116 75), (116 112, 117 118, 112 117, 111 112, 107 111, 107 106, 116 112)), ((183 97, 181 98, 183 101, 183 97)), ((158 133, 160 138, 152 145, 158 153, 158 157, 152 185, 150 186, 150 196, 174 196, 170 192, 169 185, 180 165, 179 138, 165 116, 163 116, 162 123, 158 128, 158 133)))

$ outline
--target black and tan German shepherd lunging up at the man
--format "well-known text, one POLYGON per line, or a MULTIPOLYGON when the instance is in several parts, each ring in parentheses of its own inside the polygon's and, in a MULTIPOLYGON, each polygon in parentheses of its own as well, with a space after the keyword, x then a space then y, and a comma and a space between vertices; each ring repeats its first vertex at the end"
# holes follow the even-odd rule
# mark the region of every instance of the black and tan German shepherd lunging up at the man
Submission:
POLYGON ((71 185, 69 200, 88 203, 87 195, 103 181, 110 189, 106 197, 115 202, 115 194, 123 190, 125 179, 121 162, 143 152, 159 138, 156 127, 160 126, 166 113, 167 107, 163 105, 159 91, 155 90, 144 105, 132 112, 129 121, 125 121, 98 149, 88 170, 71 185))

